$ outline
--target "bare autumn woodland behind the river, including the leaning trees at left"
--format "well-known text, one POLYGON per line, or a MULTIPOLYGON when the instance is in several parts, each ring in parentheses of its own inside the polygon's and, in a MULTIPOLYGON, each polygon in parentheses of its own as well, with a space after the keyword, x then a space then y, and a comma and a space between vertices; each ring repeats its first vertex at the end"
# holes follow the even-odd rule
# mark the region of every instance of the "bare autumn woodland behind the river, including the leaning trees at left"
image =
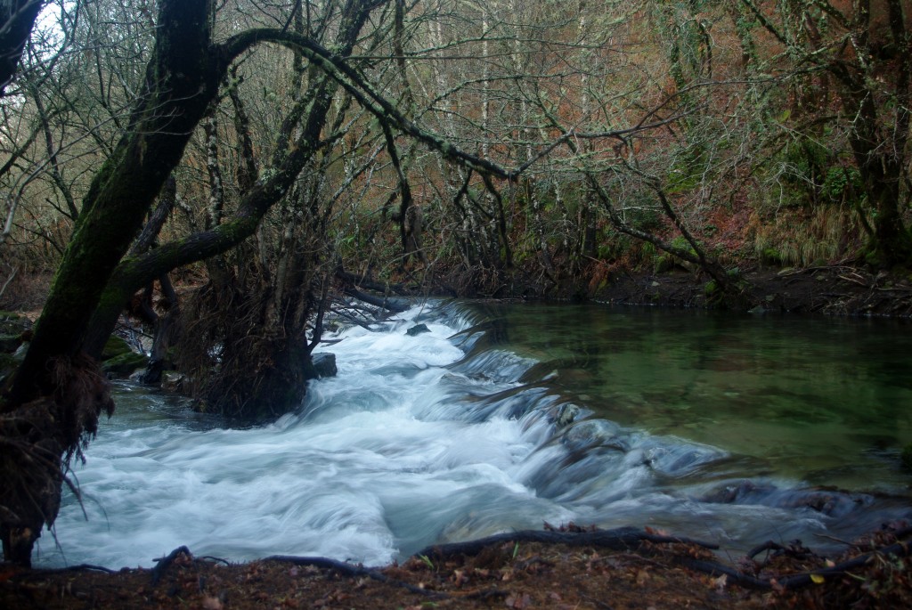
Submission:
POLYGON ((907 298, 910 109, 905 0, 5 0, 0 306, 40 310, 4 361, 5 559, 113 412, 121 315, 145 381, 259 421, 340 295, 678 273, 747 310, 751 271, 838 269, 907 298))

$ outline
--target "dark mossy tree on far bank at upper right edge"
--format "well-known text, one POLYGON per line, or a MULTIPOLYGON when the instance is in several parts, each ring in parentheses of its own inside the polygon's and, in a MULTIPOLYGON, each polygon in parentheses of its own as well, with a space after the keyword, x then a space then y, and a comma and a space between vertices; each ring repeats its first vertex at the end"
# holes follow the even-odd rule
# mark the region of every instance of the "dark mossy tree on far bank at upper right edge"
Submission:
MULTIPOLYGON (((799 109, 824 114, 838 106, 834 129, 852 151, 872 217, 870 260, 912 263, 909 136, 912 115, 912 15, 904 0, 741 0, 787 61, 767 59, 797 81, 799 109), (808 75, 816 82, 808 82, 808 75), (832 83, 831 98, 827 84, 832 83)), ((865 221, 866 222, 866 221, 865 221)))

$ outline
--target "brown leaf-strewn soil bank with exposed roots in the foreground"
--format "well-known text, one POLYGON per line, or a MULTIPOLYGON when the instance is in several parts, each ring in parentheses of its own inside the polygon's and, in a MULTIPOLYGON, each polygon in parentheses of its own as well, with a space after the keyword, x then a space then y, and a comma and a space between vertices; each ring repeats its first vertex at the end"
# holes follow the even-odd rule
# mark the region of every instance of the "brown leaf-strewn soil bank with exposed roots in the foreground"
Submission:
MULTIPOLYGON (((713 573, 718 556, 689 543, 502 542, 472 553, 417 556, 378 570, 318 558, 230 564, 171 553, 154 570, 0 567, 5 608, 896 608, 912 607, 907 543, 880 532, 826 560, 793 544, 713 573), (873 547, 890 553, 866 553, 873 547), (770 553, 770 554, 766 554, 770 553), (835 567, 834 563, 837 563, 835 567), (830 567, 827 567, 830 566, 830 567), (788 574, 824 571, 794 584, 788 574), (828 570, 828 572, 826 572, 828 570), (736 584, 742 574, 750 586, 736 584), (784 586, 782 584, 784 584, 784 586)), ((800 579, 801 577, 799 577, 800 579)))

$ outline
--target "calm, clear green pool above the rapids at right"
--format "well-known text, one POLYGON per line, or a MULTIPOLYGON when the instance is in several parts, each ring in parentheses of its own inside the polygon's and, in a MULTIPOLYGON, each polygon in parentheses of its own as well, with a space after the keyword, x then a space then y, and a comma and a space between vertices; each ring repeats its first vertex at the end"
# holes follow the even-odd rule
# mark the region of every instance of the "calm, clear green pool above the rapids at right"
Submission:
POLYGON ((498 343, 599 418, 757 458, 770 474, 907 493, 912 325, 604 305, 478 305, 498 343))

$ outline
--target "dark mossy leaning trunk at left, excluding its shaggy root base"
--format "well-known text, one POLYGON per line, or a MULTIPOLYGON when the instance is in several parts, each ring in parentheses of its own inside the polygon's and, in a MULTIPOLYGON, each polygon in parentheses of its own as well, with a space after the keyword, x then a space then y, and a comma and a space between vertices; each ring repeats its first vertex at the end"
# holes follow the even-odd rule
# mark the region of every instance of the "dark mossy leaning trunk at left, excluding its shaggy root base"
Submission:
POLYGON ((217 90, 208 2, 163 0, 156 31, 140 101, 89 187, 7 404, 52 393, 47 362, 78 355, 105 286, 217 90))

